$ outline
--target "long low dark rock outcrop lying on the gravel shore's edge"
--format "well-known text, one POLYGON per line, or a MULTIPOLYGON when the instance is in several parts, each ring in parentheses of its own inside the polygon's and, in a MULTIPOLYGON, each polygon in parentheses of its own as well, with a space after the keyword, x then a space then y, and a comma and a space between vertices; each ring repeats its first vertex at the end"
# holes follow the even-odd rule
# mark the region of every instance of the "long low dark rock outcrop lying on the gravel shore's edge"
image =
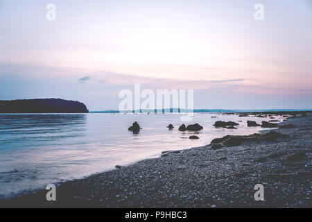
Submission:
POLYGON ((287 138, 288 136, 283 135, 281 133, 277 133, 275 131, 270 131, 265 134, 252 134, 248 136, 233 136, 227 135, 222 138, 216 138, 211 141, 211 144, 220 144, 222 143, 225 146, 239 146, 242 142, 261 142, 261 141, 269 141, 274 142, 277 138, 287 138))

